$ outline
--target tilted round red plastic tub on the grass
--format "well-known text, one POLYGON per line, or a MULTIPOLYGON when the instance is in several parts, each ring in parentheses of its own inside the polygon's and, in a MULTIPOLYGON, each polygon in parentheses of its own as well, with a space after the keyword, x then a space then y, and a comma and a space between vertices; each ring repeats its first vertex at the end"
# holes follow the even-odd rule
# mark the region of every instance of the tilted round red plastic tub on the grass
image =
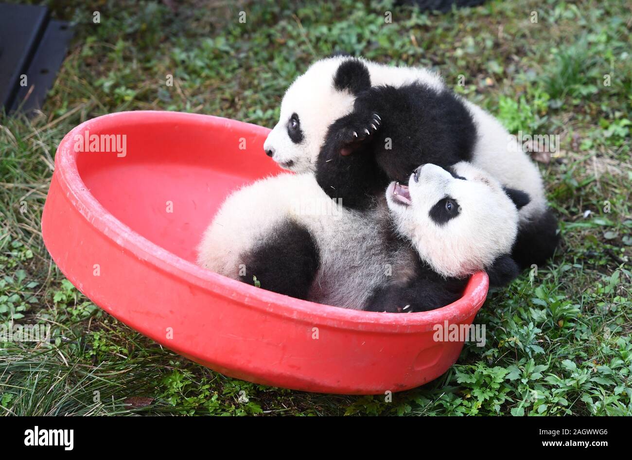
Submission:
POLYGON ((451 305, 396 314, 296 300, 195 265, 226 195, 279 171, 262 148, 268 131, 177 112, 121 112, 77 126, 59 144, 42 216, 52 258, 106 312, 231 377, 384 394, 446 372, 463 342, 436 342, 433 327, 472 322, 485 273, 451 305))

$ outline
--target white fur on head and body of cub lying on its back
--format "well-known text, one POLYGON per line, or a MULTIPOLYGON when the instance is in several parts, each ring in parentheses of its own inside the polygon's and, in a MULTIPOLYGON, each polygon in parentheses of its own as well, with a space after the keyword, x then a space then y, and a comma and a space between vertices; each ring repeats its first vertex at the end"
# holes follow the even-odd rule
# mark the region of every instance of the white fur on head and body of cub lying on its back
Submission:
POLYGON ((260 179, 222 204, 198 246, 198 264, 239 279, 244 255, 265 244, 274 228, 289 218, 305 226, 319 248, 320 265, 307 300, 361 309, 389 276, 406 281, 414 272, 408 247, 387 250, 382 229, 390 210, 397 231, 436 272, 446 277, 470 275, 511 251, 518 212, 485 171, 466 162, 455 170, 468 180, 454 179, 441 167, 427 164, 419 182, 410 181, 409 206, 393 200, 391 184, 388 205, 382 200, 369 212, 332 203, 310 173, 260 179), (446 195, 463 209, 445 226, 437 226, 428 211, 446 195))

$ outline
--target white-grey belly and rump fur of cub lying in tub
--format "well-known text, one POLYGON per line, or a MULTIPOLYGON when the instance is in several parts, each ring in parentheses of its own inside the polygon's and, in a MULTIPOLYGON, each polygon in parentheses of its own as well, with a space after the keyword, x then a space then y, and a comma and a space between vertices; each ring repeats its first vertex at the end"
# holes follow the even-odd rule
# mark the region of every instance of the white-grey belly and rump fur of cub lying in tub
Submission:
POLYGON ((377 229, 385 213, 386 206, 358 213, 332 204, 313 174, 261 179, 222 204, 198 246, 198 264, 238 279, 243 255, 289 217, 307 227, 320 250, 308 300, 360 309, 394 263, 377 229))

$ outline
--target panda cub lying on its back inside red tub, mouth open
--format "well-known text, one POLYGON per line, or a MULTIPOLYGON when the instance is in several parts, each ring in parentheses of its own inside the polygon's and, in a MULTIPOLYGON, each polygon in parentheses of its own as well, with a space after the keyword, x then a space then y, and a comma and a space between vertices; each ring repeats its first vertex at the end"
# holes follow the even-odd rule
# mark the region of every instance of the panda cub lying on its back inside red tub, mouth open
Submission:
POLYGON ((336 205, 313 174, 280 174, 230 195, 198 264, 295 298, 356 310, 419 312, 457 300, 487 270, 502 286, 525 193, 461 162, 426 164, 363 212, 336 205))

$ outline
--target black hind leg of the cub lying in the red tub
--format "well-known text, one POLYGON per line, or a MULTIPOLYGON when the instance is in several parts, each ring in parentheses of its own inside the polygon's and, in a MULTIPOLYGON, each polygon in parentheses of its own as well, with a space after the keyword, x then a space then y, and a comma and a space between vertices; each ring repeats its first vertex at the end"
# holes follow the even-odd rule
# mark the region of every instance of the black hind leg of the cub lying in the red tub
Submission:
POLYGON ((289 219, 243 257, 241 281, 298 299, 306 299, 319 267, 319 250, 305 227, 289 219))

